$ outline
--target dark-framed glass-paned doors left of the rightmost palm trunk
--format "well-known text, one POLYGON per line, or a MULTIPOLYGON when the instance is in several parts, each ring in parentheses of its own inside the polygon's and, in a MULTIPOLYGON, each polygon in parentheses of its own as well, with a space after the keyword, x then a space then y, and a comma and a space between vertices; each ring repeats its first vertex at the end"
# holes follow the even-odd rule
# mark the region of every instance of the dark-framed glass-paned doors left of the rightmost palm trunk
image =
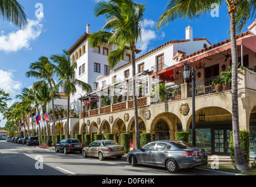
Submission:
POLYGON ((230 155, 230 129, 213 129, 213 153, 230 155))

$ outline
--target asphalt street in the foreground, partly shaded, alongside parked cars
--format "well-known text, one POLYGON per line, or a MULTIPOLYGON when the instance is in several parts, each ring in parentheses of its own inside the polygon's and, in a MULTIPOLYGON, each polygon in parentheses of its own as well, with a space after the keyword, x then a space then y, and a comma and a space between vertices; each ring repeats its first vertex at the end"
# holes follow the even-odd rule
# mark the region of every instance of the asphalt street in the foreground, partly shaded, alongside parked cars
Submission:
POLYGON ((83 158, 80 153, 55 153, 42 148, 0 141, 0 175, 226 175, 201 169, 170 174, 164 168, 132 167, 125 158, 83 158))

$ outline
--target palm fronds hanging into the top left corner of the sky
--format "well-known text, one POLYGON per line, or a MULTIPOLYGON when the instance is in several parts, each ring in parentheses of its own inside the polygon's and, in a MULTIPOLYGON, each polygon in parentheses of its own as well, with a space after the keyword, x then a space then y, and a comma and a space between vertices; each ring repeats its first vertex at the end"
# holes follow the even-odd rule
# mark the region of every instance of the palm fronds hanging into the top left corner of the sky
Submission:
POLYGON ((0 1, 0 17, 8 22, 12 22, 20 29, 28 25, 27 16, 23 9, 23 6, 21 6, 16 0, 0 1))

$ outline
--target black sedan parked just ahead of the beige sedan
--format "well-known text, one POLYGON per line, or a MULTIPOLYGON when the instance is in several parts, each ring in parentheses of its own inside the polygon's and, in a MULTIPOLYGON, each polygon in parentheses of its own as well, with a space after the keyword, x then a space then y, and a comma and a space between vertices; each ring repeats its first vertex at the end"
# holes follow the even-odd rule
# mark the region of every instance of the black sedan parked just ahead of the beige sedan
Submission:
POLYGON ((60 143, 56 144, 55 151, 59 153, 59 151, 63 151, 64 154, 73 151, 80 151, 82 153, 83 147, 86 147, 86 144, 80 142, 77 139, 63 139, 60 143))

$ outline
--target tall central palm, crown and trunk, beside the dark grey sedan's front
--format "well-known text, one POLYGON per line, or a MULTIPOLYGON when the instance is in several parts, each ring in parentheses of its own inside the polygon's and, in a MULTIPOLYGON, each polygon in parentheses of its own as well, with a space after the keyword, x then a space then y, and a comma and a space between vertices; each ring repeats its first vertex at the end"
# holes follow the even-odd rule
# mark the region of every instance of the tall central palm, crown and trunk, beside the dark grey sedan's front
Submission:
POLYGON ((107 43, 110 46, 117 47, 115 50, 111 51, 107 57, 111 69, 120 63, 126 50, 132 53, 132 93, 134 96, 136 149, 140 148, 140 141, 135 85, 135 51, 136 43, 141 40, 144 11, 145 5, 136 4, 131 0, 98 2, 95 7, 95 17, 97 18, 98 16, 104 15, 106 23, 103 30, 95 32, 89 37, 89 45, 91 47, 100 46, 101 43, 107 43), (107 29, 112 29, 114 32, 109 33, 104 31, 107 29))

